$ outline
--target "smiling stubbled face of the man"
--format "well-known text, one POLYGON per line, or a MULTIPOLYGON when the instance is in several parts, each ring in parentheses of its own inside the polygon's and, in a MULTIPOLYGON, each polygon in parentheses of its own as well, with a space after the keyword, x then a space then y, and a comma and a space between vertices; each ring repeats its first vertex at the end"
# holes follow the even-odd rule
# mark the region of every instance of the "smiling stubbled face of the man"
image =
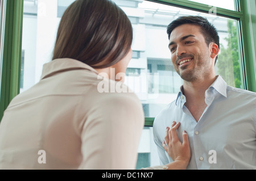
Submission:
POLYGON ((205 43, 199 26, 183 24, 176 27, 170 36, 169 49, 174 68, 188 82, 214 74, 214 59, 211 45, 205 43))

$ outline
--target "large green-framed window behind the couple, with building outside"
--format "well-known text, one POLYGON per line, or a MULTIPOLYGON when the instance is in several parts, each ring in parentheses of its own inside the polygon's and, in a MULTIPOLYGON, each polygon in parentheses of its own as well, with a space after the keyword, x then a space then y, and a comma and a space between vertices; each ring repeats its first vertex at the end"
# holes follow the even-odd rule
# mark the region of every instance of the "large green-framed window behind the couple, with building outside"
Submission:
MULTIPOLYGON (((129 16, 134 29, 132 47, 134 55, 127 69, 126 80, 129 81, 127 85, 134 89, 141 99, 146 116, 146 127, 138 150, 137 166, 158 165, 158 155, 154 141, 152 142, 152 121, 163 106, 176 98, 177 91, 182 84, 172 69, 170 52, 167 47, 167 25, 181 15, 207 17, 216 26, 221 39, 221 51, 215 67, 216 73, 221 74, 229 85, 256 91, 254 53, 256 27, 252 23, 255 22, 255 1, 114 1, 129 16)), ((13 11, 10 7, 21 10, 23 6, 19 3, 12 4, 8 0, 1 1, 1 20, 3 2, 6 3, 7 9, 6 20, 14 28, 19 28, 22 23, 19 19, 12 19, 13 11)), ((50 61, 52 57, 60 17, 64 9, 72 2, 73 0, 24 0, 22 36, 19 35, 19 31, 14 33, 13 27, 6 28, 5 37, 15 36, 17 41, 22 40, 22 50, 26 52, 23 62, 23 86, 20 83, 20 92, 29 89, 39 81, 43 64, 50 61)), ((18 11, 15 12, 18 13, 18 11)), ((1 34, 1 48, 3 48, 2 37, 1 34)), ((9 41, 5 38, 5 43, 9 41)), ((19 65, 20 59, 16 58, 18 53, 22 54, 19 48, 16 45, 5 45, 5 51, 1 50, 1 53, 3 52, 1 116, 11 97, 19 93, 16 87, 12 86, 18 85, 21 81, 21 79, 16 81, 18 78, 15 76, 19 76, 14 71, 16 66, 11 67, 7 64, 7 62, 12 62, 13 65, 19 65), (11 73, 6 70, 11 70, 11 73)))

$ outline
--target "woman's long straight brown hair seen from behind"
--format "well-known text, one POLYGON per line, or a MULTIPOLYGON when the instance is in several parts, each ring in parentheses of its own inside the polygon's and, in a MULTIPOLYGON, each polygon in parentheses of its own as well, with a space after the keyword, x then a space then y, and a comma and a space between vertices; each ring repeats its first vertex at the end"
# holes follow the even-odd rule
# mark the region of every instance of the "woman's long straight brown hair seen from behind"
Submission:
POLYGON ((107 68, 130 50, 133 28, 125 12, 110 0, 76 0, 64 12, 52 60, 73 58, 107 68))

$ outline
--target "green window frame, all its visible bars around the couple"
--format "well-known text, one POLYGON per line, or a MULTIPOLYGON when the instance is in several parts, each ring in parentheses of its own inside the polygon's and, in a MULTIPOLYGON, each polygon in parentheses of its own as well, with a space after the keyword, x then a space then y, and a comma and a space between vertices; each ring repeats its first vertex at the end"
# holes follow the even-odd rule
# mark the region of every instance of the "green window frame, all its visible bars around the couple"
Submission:
MULTIPOLYGON (((19 94, 22 55, 23 0, 6 3, 5 36, 2 55, 0 120, 11 99, 19 94)), ((147 0, 183 9, 209 12, 210 6, 187 0, 147 0)), ((238 11, 216 7, 216 15, 236 19, 240 26, 244 89, 256 92, 256 0, 237 0, 238 11)), ((145 117, 145 127, 152 127, 154 117, 145 117)))

